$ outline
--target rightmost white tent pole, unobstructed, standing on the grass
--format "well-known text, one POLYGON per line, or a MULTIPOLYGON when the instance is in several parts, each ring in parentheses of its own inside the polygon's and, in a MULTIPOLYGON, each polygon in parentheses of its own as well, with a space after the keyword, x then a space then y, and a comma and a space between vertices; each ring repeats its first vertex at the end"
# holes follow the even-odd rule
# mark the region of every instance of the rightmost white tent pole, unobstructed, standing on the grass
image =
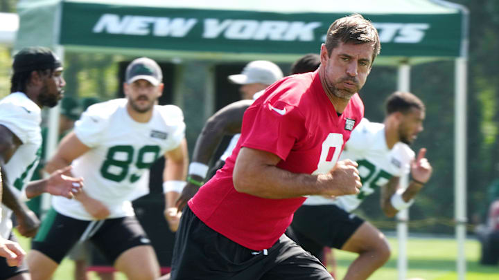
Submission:
POLYGON ((455 60, 455 123, 454 123, 454 214, 457 239, 457 279, 464 280, 466 274, 466 57, 455 60))

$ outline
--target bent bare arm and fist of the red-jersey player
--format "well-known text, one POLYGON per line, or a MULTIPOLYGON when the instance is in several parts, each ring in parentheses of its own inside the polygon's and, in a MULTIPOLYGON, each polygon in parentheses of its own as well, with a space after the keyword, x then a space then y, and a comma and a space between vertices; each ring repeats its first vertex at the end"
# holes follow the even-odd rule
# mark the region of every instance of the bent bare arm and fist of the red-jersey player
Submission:
POLYGON ((294 198, 306 195, 341 196, 358 194, 362 186, 357 164, 337 162, 328 174, 296 174, 280 169, 279 156, 242 147, 234 167, 236 191, 262 198, 294 198))

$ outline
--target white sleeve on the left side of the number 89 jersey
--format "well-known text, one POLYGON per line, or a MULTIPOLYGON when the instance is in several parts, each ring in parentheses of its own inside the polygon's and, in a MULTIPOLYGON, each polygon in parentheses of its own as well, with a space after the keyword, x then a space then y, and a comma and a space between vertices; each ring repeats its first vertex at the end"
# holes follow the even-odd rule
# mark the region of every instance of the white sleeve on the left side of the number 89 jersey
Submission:
POLYGON ((103 115, 104 108, 100 104, 89 106, 83 112, 80 120, 76 121, 74 132, 83 144, 87 147, 96 147, 101 141, 103 131, 107 127, 106 115, 103 115), (100 112, 100 113, 99 113, 100 112))

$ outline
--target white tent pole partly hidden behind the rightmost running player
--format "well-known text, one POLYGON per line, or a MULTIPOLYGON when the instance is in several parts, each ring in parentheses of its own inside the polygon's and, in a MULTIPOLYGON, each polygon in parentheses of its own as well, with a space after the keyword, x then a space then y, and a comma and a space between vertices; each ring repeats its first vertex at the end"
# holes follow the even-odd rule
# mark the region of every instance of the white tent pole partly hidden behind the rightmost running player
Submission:
MULTIPOLYGON (((399 65, 399 75, 397 90, 410 91, 410 65, 403 62, 399 65)), ((403 188, 408 187, 408 176, 401 178, 403 188)), ((396 215, 397 218, 397 239, 399 241, 399 259, 397 260, 397 270, 399 271, 399 280, 405 280, 408 272, 407 259, 407 240, 408 240, 408 221, 409 209, 405 209, 396 215)))

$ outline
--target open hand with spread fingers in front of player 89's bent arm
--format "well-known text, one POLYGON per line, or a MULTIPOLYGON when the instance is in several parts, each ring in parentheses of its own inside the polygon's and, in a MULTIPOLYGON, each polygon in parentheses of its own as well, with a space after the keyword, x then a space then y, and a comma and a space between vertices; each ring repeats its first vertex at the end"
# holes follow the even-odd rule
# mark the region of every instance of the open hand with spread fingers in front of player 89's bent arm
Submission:
POLYGON ((71 177, 71 166, 68 166, 51 174, 46 183, 46 192, 71 199, 81 192, 82 186, 83 179, 71 177))

